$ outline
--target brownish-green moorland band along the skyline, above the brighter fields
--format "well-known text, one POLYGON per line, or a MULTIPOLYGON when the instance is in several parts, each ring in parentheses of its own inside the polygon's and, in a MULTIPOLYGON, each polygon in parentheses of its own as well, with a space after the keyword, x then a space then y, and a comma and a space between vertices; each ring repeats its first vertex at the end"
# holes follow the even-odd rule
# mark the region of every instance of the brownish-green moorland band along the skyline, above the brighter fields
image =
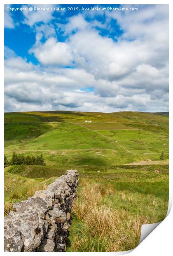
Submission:
MULTIPOLYGON (((37 111, 37 112, 16 112, 16 113, 5 113, 5 117, 12 117, 12 122, 15 118, 19 117, 19 121, 23 120, 26 116, 27 119, 31 120, 34 117, 37 120, 43 122, 85 122, 85 120, 96 121, 96 122, 118 122, 118 123, 129 123, 139 122, 145 124, 154 125, 168 125, 168 116, 158 115, 158 113, 141 113, 141 112, 116 112, 116 113, 99 113, 99 112, 75 112, 75 111, 37 111), (13 119, 14 117, 14 119, 13 119)), ((36 119, 35 119, 36 120, 36 119)), ((27 121, 27 120, 26 120, 27 121)), ((9 121, 8 121, 9 122, 9 121)), ((32 121, 31 121, 32 122, 32 121)))

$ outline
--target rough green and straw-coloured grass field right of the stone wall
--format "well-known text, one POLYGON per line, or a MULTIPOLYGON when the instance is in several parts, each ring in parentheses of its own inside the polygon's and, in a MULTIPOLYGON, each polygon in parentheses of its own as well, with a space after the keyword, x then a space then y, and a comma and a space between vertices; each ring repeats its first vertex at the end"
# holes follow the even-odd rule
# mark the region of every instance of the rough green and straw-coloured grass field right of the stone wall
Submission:
MULTIPOLYGON (((147 175, 149 180, 150 174, 147 175)), ((81 179, 67 251, 135 248, 141 225, 159 222, 166 216, 168 177, 162 178, 147 183, 142 176, 140 182, 131 183, 81 179)))

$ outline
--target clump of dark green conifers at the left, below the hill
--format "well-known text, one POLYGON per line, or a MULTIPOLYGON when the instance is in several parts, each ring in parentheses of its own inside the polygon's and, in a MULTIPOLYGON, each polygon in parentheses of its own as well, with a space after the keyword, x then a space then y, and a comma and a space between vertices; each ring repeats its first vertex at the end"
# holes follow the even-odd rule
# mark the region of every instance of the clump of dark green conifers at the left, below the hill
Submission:
POLYGON ((12 159, 7 160, 7 156, 4 155, 4 166, 9 165, 20 165, 20 164, 29 164, 29 165, 46 165, 43 155, 40 156, 23 156, 17 155, 16 152, 13 152, 12 159))

